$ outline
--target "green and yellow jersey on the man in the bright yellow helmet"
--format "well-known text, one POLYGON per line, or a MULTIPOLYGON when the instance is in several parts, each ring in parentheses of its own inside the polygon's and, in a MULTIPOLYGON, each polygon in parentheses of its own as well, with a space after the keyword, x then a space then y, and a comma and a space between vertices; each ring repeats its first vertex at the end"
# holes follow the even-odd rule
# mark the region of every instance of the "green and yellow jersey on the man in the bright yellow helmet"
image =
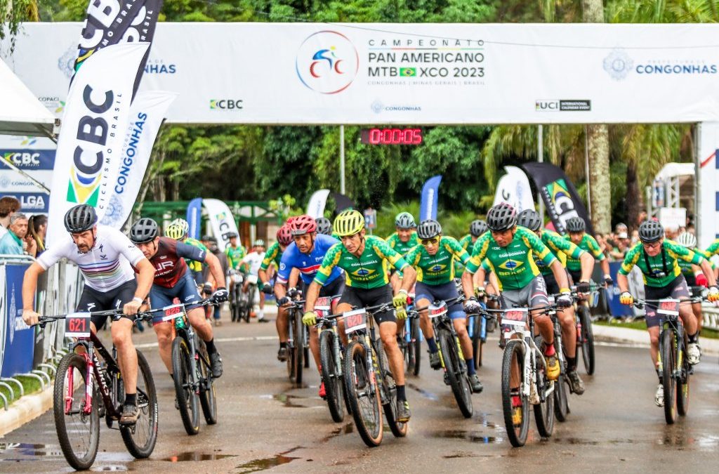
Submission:
POLYGON ((379 288, 389 283, 388 264, 402 271, 407 262, 387 242, 375 235, 365 237, 365 250, 359 257, 341 243, 333 245, 324 256, 314 281, 324 285, 335 267, 346 275, 345 285, 354 288, 379 288))

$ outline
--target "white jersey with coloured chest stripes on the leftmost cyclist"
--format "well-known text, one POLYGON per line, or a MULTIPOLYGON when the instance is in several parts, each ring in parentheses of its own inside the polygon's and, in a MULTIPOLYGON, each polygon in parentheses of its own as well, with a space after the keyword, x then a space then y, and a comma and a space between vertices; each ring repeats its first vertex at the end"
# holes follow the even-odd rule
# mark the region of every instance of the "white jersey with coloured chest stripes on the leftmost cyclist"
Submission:
POLYGON ((61 258, 67 258, 78 265, 87 286, 93 290, 107 291, 132 280, 132 267, 145 255, 119 230, 98 225, 95 245, 89 252, 80 252, 70 234, 65 234, 63 240, 42 252, 37 263, 47 270, 61 258))

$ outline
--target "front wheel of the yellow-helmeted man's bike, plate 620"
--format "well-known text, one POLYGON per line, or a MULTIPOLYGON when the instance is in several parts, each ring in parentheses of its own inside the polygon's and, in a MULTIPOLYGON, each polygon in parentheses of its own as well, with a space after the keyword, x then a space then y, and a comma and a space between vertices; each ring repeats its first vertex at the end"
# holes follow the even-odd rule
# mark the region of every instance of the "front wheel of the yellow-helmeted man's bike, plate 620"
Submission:
POLYGON ((365 345, 358 341, 350 342, 345 352, 344 384, 359 436, 365 445, 379 446, 384 428, 380 411, 380 391, 377 384, 370 380, 365 345))

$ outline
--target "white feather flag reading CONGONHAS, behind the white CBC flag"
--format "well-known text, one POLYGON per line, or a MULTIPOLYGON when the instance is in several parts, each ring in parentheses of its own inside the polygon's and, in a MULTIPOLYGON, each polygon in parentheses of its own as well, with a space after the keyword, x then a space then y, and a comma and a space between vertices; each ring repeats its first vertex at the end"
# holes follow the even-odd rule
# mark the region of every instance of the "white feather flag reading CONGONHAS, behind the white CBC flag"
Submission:
POLYGON ((147 164, 150 163, 152 145, 175 97, 177 94, 170 92, 140 92, 132 101, 122 157, 115 163, 118 168, 110 181, 110 198, 100 219, 101 224, 119 229, 130 217, 147 164))

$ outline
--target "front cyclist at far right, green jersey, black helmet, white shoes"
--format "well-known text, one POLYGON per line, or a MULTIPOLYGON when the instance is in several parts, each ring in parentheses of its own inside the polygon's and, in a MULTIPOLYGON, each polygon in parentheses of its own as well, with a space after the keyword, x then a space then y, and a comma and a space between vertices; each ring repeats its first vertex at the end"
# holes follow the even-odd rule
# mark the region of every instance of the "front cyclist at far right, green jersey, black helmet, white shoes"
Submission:
MULTIPOLYGON (((709 283, 709 301, 719 301, 719 288, 716 286, 714 273, 709 264, 702 255, 692 252, 686 247, 678 245, 672 240, 664 238, 664 227, 657 221, 644 221, 639 226, 639 240, 634 247, 627 252, 624 262, 617 274, 617 283, 621 294, 619 301, 622 304, 631 305, 634 298, 629 293, 629 283, 627 275, 634 267, 638 266, 641 273, 644 274, 644 292, 646 299, 658 300, 662 298, 689 298, 689 288, 687 280, 682 275, 682 269, 679 268, 678 260, 684 260, 692 265, 701 268, 709 283)), ((691 306, 679 305, 679 317, 682 318, 684 327, 687 330, 689 343, 687 344, 687 361, 692 364, 698 364, 702 356, 701 347, 699 346, 699 331, 697 330, 697 319, 692 312, 691 306)), ((664 385, 659 371, 659 316, 656 314, 656 308, 646 306, 646 329, 649 331, 649 341, 651 347, 649 353, 651 360, 654 362, 656 374, 659 376, 659 386, 656 388, 654 403, 657 406, 664 406, 664 385)))

